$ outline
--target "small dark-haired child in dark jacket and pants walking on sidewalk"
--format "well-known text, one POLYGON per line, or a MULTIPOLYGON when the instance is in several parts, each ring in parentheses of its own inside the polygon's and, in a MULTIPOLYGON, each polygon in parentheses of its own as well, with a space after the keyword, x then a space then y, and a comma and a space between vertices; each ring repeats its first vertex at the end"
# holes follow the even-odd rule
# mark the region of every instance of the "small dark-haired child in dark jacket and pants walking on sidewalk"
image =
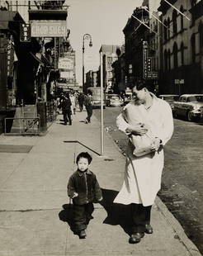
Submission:
POLYGON ((93 218, 93 201, 102 201, 102 190, 97 177, 89 170, 92 156, 87 152, 78 154, 75 171, 68 180, 68 197, 73 199, 73 222, 80 239, 86 238, 87 225, 93 218))

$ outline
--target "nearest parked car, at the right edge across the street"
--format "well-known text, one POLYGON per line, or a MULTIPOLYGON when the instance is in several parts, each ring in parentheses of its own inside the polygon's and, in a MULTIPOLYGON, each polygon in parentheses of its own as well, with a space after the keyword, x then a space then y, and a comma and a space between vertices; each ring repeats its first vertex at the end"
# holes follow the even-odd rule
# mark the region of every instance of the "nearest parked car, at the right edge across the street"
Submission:
POLYGON ((192 121, 194 118, 201 118, 201 107, 203 107, 203 94, 183 94, 173 103, 173 114, 192 121))

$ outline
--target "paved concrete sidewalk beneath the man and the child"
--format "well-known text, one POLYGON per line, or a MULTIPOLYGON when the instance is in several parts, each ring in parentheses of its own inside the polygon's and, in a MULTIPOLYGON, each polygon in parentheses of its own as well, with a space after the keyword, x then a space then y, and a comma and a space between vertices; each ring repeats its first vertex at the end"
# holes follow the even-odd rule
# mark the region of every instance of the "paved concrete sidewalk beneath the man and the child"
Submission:
POLYGON ((159 198, 152 211, 153 235, 129 244, 129 207, 112 204, 125 157, 106 131, 100 156, 100 123, 92 116, 86 125, 85 116, 77 112, 73 126, 64 126, 59 115, 45 136, 0 136, 0 256, 201 256, 159 198), (87 239, 73 235, 65 221, 68 177, 81 151, 92 154, 91 169, 106 201, 95 204, 87 239))

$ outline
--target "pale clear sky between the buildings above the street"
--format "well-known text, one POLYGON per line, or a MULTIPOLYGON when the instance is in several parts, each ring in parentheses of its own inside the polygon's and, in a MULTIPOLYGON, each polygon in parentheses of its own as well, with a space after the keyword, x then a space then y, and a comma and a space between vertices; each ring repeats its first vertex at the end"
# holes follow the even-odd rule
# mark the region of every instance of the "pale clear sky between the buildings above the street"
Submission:
POLYGON ((92 36, 92 47, 89 40, 84 40, 84 67, 97 71, 100 62, 101 45, 122 45, 125 42, 123 28, 136 7, 143 0, 67 0, 69 40, 76 51, 76 78, 82 85, 82 47, 83 35, 92 36))

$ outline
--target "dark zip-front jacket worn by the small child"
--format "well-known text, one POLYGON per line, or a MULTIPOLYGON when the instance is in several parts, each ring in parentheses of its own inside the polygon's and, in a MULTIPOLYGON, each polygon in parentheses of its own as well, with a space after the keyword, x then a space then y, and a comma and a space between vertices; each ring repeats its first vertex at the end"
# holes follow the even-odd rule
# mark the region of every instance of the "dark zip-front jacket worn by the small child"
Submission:
POLYGON ((84 173, 79 170, 74 172, 68 180, 68 197, 73 198, 73 203, 77 205, 101 200, 102 190, 96 175, 88 169, 84 173), (78 193, 78 197, 73 197, 74 192, 78 193))

